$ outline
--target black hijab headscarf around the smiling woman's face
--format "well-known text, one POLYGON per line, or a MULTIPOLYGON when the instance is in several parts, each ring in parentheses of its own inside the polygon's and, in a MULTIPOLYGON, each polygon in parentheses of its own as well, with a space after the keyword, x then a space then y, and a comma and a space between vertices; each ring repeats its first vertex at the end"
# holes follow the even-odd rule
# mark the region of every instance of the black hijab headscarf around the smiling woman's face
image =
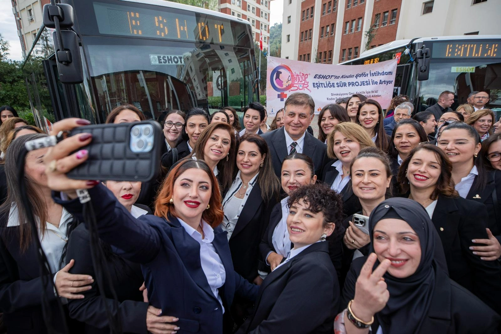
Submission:
POLYGON ((402 328, 407 328, 405 332, 408 333, 418 333, 431 304, 436 270, 441 270, 437 269, 440 268, 438 263, 445 263, 443 249, 435 227, 421 204, 407 198, 390 198, 380 203, 370 215, 371 252, 374 251, 374 226, 385 218, 401 219, 410 225, 419 237, 421 260, 416 272, 409 277, 397 278, 388 272, 384 274, 390 298, 376 317, 385 334, 402 333, 402 328), (437 258, 443 262, 437 261, 437 258))

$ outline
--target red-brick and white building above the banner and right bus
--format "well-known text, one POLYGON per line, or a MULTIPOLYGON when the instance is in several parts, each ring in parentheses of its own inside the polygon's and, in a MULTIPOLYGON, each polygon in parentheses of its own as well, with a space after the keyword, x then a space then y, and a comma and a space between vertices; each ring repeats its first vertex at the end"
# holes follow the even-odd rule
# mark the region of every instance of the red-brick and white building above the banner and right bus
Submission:
POLYGON ((283 0, 282 58, 338 64, 403 39, 501 34, 499 0, 283 0))

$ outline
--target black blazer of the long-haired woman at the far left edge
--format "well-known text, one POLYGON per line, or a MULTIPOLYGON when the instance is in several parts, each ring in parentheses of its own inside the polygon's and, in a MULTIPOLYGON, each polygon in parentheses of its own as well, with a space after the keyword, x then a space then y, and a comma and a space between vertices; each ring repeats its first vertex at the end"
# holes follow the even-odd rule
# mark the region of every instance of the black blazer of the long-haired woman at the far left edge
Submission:
MULTIPOLYGON (((62 317, 66 317, 71 333, 81 333, 81 326, 61 314, 52 284, 44 287, 40 276, 37 249, 34 243, 24 252, 19 245, 19 226, 7 227, 8 213, 0 218, 0 312, 8 334, 45 334, 41 294, 45 293, 52 318, 48 320, 58 332, 64 332, 62 317), (44 290, 45 289, 45 290, 44 290)), ((47 277, 54 279, 54 273, 47 277)))

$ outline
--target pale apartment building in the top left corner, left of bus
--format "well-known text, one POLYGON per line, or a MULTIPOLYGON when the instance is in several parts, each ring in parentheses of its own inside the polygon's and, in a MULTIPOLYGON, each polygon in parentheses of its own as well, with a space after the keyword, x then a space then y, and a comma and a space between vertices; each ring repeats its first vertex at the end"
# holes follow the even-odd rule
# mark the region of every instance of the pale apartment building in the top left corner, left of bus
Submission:
POLYGON ((26 57, 43 22, 42 8, 49 4, 50 0, 11 0, 11 3, 23 57, 26 57))

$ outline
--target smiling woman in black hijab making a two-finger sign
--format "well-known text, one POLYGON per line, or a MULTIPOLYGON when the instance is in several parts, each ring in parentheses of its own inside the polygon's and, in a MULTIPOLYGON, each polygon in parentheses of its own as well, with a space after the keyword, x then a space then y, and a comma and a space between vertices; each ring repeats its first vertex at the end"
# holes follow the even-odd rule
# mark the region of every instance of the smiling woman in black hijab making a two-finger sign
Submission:
POLYGON ((369 233, 375 254, 352 263, 336 333, 497 332, 499 315, 447 276, 440 240, 419 203, 381 202, 369 233))

